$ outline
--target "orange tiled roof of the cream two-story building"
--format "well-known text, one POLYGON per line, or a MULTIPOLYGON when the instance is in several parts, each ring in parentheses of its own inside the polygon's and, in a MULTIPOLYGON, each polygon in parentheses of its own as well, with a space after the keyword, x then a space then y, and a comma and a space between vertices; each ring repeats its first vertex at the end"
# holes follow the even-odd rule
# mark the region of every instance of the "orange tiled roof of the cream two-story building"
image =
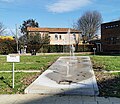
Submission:
MULTIPOLYGON (((34 28, 34 27, 28 27, 27 31, 33 31, 33 32, 68 32, 69 28, 34 28)), ((77 32, 80 33, 80 31, 75 29, 70 29, 70 32, 77 32)))

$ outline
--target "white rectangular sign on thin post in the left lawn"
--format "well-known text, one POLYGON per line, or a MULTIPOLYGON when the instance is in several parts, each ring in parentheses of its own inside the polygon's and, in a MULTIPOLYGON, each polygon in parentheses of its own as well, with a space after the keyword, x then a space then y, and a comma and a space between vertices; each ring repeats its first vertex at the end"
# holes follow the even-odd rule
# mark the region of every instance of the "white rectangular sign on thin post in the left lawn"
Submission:
POLYGON ((13 55, 7 55, 7 62, 12 62, 13 63, 13 70, 12 70, 12 75, 13 75, 13 78, 12 78, 12 80, 13 80, 13 88, 14 88, 14 83, 15 83, 15 72, 14 72, 14 68, 15 68, 15 65, 14 65, 14 63, 15 62, 20 62, 20 56, 13 56, 13 55))

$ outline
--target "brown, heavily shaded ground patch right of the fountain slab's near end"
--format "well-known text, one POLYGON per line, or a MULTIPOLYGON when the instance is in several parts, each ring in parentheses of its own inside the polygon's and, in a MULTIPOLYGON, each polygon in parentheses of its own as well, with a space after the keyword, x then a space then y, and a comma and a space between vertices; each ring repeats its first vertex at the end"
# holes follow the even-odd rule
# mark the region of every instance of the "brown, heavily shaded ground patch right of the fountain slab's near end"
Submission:
POLYGON ((120 74, 95 71, 100 94, 99 96, 120 97, 120 74))

